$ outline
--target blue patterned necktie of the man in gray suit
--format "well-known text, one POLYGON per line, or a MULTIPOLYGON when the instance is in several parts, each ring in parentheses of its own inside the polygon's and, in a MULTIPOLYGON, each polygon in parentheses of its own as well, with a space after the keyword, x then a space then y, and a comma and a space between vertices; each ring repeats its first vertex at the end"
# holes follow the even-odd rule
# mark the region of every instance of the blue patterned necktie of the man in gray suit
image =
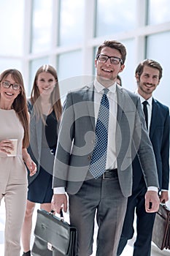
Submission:
POLYGON ((104 89, 104 94, 101 98, 101 104, 98 110, 98 118, 96 123, 96 143, 89 169, 94 178, 100 177, 106 169, 109 125, 109 99, 107 98, 108 91, 109 89, 104 89))

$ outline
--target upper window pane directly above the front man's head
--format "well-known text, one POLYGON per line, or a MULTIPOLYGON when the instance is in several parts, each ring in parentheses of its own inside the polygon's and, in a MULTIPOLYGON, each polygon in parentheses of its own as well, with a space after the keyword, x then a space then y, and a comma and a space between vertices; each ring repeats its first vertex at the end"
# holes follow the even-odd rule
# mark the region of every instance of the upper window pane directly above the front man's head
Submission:
POLYGON ((136 27, 136 0, 98 0, 96 37, 136 27))

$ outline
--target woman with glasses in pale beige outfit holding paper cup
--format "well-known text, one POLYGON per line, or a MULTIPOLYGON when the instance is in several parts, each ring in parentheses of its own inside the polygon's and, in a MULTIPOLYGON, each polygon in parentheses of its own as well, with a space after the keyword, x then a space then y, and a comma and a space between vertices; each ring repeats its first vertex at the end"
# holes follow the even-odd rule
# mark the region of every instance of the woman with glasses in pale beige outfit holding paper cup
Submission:
POLYGON ((17 69, 7 69, 0 75, 0 201, 4 197, 5 256, 20 255, 20 233, 28 186, 26 166, 30 176, 36 173, 36 164, 26 149, 29 143, 28 118, 22 75, 17 69))

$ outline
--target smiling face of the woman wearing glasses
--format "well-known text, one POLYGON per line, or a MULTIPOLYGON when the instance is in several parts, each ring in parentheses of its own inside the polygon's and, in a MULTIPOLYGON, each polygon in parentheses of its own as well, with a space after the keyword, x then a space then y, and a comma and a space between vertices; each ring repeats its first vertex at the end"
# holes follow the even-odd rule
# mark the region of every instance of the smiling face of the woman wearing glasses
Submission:
POLYGON ((12 107, 12 103, 18 97, 21 90, 20 89, 14 90, 12 89, 12 86, 10 86, 9 88, 4 88, 4 86, 2 86, 3 82, 8 82, 12 84, 16 84, 16 83, 18 84, 18 82, 12 78, 11 74, 7 75, 6 78, 1 80, 1 86, 0 86, 1 106, 4 108, 10 109, 12 107))

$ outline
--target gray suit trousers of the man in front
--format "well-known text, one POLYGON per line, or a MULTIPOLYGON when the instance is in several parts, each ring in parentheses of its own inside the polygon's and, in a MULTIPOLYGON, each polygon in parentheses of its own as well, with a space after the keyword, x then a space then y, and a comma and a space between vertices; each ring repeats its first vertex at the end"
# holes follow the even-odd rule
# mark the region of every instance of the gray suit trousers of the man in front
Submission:
POLYGON ((95 217, 98 224, 97 256, 116 256, 127 197, 124 197, 118 178, 97 178, 84 181, 79 192, 69 195, 70 222, 77 227, 77 256, 93 252, 95 217))

